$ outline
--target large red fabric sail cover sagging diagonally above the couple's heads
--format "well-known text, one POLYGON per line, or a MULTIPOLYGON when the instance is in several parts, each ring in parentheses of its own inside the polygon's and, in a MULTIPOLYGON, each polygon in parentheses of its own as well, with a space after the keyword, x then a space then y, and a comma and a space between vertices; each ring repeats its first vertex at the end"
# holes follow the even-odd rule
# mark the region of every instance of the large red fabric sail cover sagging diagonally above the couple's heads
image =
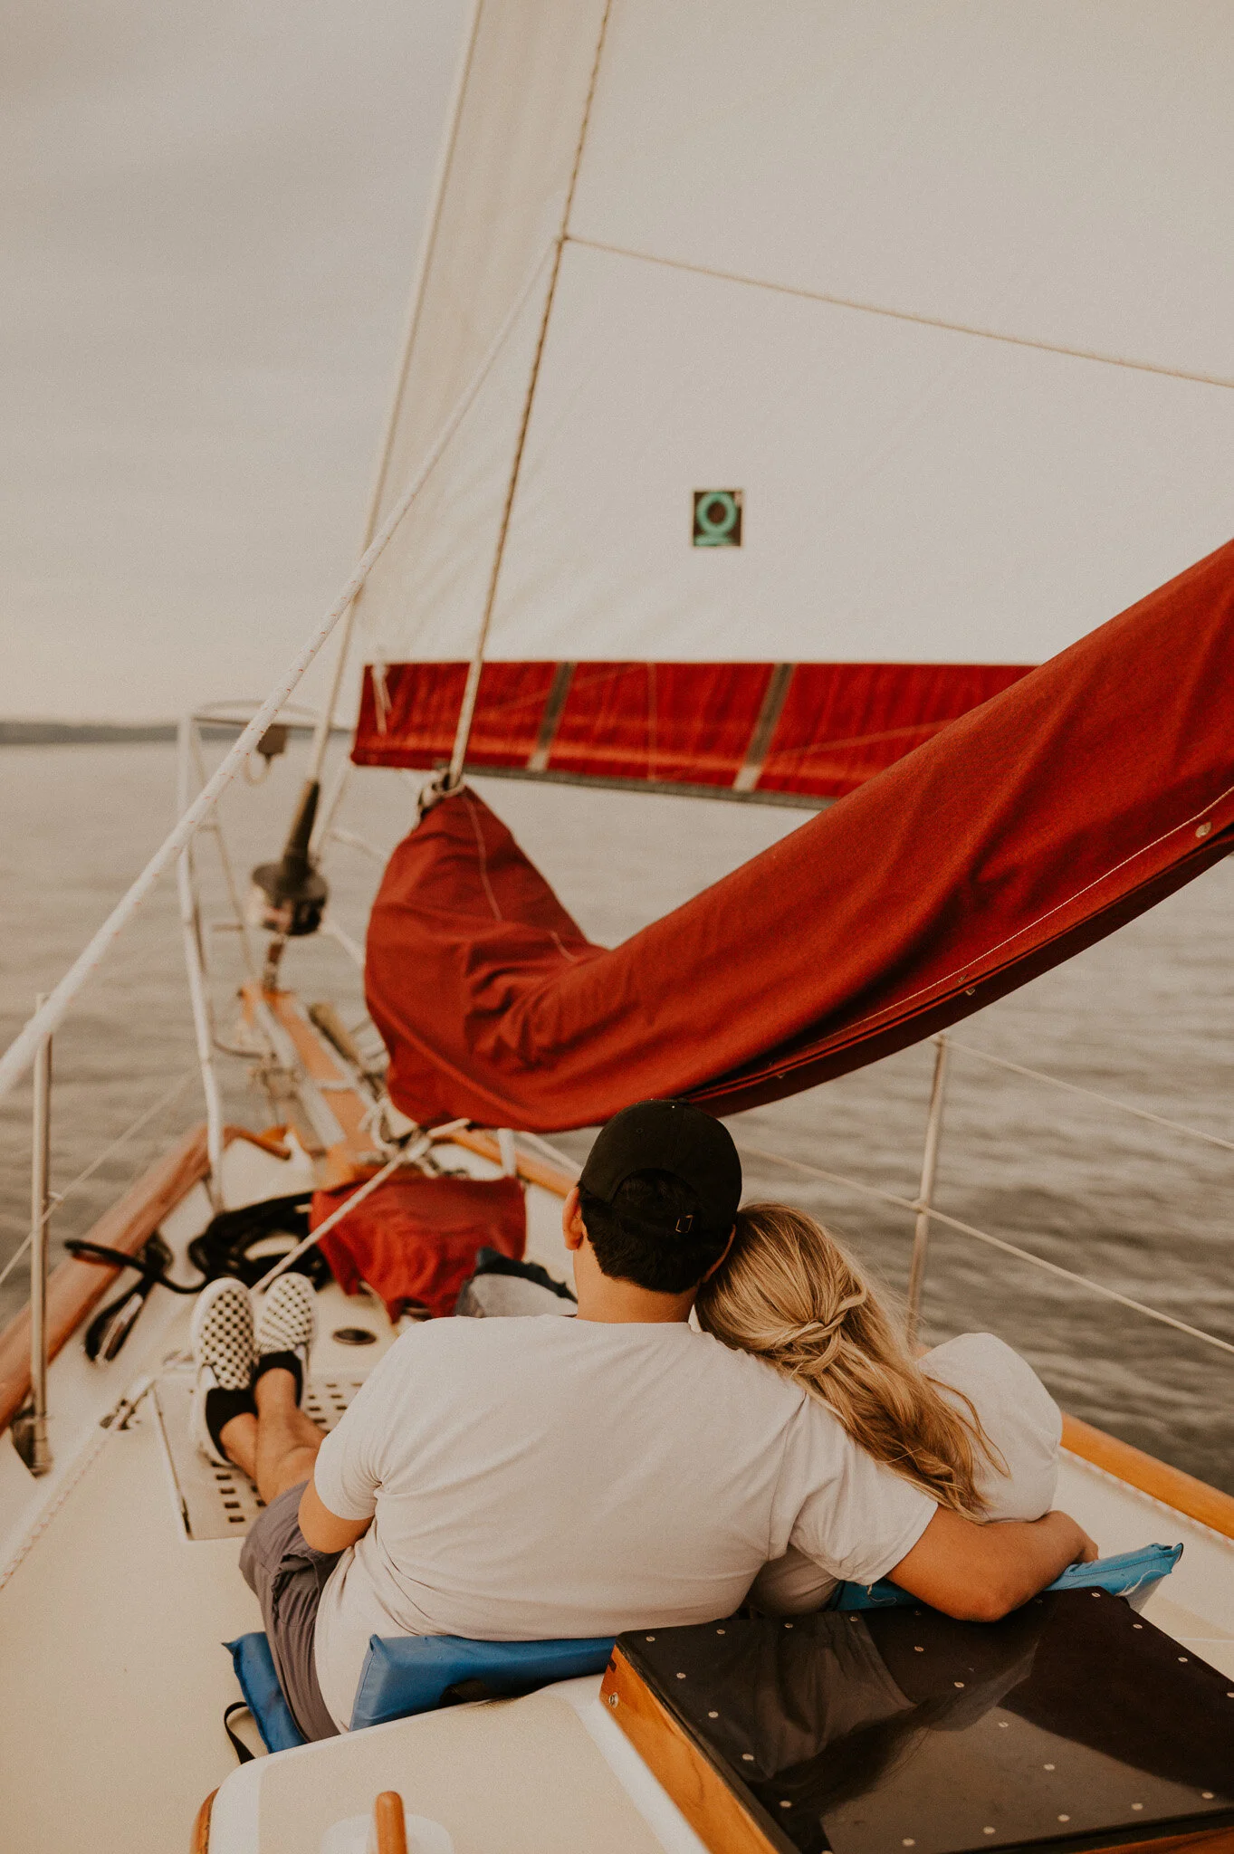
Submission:
POLYGON ((1232 692, 1228 543, 613 951, 461 792, 372 908, 391 1094, 548 1133, 652 1094, 732 1112, 917 1042, 1234 847, 1232 692))

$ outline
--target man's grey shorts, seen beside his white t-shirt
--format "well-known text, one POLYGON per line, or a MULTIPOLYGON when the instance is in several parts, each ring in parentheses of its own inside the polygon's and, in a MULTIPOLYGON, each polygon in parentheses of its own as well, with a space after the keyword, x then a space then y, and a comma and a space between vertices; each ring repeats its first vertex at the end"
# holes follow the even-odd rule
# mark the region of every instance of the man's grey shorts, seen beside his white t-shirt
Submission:
POLYGON ((317 1685, 313 1632, 326 1578, 341 1552, 315 1552, 300 1531, 300 1494, 289 1487, 258 1513, 241 1550, 241 1576, 261 1604, 274 1670, 306 1739, 337 1737, 317 1685))

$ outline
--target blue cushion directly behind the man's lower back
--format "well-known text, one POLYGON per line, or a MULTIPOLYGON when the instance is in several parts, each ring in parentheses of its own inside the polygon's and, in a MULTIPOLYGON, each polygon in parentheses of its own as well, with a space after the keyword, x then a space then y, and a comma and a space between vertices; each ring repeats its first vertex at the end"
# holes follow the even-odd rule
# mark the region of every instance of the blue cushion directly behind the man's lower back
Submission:
POLYGON ((352 1732, 441 1706, 447 1687, 482 1680, 493 1693, 530 1693, 554 1680, 602 1674, 611 1635, 584 1641, 469 1641, 465 1635, 372 1635, 359 1672, 352 1732))

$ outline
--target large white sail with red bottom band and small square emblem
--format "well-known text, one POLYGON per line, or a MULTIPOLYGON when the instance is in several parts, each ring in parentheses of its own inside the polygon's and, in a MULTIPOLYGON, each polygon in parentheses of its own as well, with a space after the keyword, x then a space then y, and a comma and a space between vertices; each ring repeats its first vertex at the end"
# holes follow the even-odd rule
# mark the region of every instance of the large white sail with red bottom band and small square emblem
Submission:
POLYGON ((1234 41, 1145 0, 482 0, 356 758, 819 801, 1230 527, 1234 41))

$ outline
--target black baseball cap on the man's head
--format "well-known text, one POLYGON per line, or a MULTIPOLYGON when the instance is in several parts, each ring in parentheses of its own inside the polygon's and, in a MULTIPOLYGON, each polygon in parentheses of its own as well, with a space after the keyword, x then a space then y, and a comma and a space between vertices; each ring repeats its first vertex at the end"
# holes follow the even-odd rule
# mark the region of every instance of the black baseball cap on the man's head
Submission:
POLYGON ((623 1107, 600 1127, 578 1188, 611 1205, 636 1172, 669 1172, 693 1192, 697 1235, 732 1229, 741 1203, 741 1159, 732 1133, 713 1114, 689 1101, 623 1107))

